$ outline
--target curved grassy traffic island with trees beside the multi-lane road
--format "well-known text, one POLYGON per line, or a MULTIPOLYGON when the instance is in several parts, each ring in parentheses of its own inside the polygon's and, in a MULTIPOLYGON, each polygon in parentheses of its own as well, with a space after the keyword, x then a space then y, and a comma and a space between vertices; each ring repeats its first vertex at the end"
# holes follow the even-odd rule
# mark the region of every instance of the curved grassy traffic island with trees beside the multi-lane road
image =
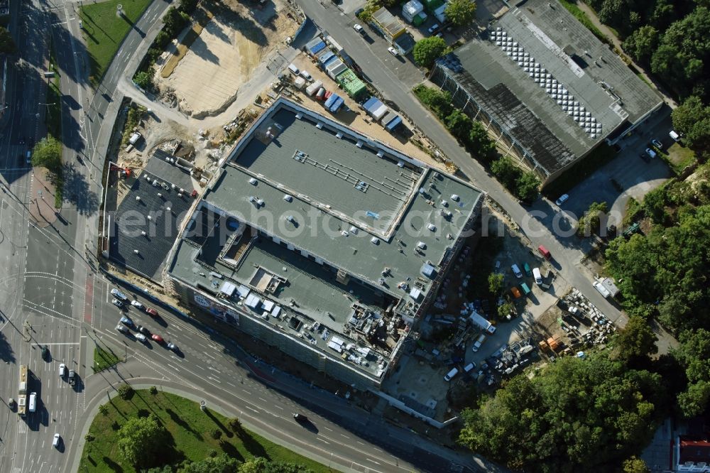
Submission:
POLYGON ((274 467, 292 464, 293 471, 301 471, 298 467, 316 473, 335 471, 251 432, 238 418, 226 418, 209 406, 202 411, 200 403, 160 388, 138 389, 130 399, 111 396, 99 406, 84 440, 80 472, 129 472, 187 463, 207 467, 212 462, 229 462, 231 471, 265 471, 263 459, 274 467), (256 469, 247 469, 247 464, 256 469))

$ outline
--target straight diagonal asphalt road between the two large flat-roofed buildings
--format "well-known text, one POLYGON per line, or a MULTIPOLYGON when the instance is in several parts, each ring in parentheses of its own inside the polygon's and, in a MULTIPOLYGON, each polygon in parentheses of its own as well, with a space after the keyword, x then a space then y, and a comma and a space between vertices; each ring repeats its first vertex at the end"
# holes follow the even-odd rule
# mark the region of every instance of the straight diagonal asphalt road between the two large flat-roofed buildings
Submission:
MULTIPOLYGON (((366 42, 352 26, 359 23, 352 13, 345 14, 331 2, 297 0, 303 11, 322 30, 327 31, 342 45, 348 55, 361 67, 364 74, 383 95, 398 104, 410 119, 459 166, 461 173, 488 197, 498 202, 537 247, 545 245, 552 253, 553 263, 560 275, 579 289, 608 318, 618 325, 626 325, 626 315, 616 305, 603 298, 592 286, 593 275, 580 260, 588 249, 585 241, 569 232, 569 219, 559 212, 554 202, 540 199, 532 209, 523 207, 484 167, 449 134, 430 112, 422 107, 411 93, 413 86, 425 80, 423 72, 410 58, 398 59, 387 51, 388 43, 368 28, 372 43, 366 42), (537 212, 530 212, 535 210, 537 212)), ((411 55, 410 55, 411 56, 411 55)))

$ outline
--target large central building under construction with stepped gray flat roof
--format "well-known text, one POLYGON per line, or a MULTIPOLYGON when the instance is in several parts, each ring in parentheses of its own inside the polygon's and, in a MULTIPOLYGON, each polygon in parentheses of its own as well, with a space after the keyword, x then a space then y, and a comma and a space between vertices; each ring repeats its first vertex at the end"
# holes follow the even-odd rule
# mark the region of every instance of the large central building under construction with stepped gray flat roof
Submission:
POLYGON ((324 374, 378 388, 483 197, 282 97, 180 229, 169 286, 324 374))

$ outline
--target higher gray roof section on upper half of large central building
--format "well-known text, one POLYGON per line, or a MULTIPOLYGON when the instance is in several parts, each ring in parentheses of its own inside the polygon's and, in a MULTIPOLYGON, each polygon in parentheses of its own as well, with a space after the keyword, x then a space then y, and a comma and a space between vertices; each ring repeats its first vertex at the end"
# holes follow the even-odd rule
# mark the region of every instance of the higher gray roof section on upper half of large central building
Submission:
MULTIPOLYGON (((299 111, 302 119, 294 119, 295 110, 286 105, 289 103, 275 107, 263 121, 273 118, 282 126, 278 137, 266 147, 260 142, 258 148, 263 153, 253 156, 258 133, 246 136, 244 152, 237 149, 204 200, 302 253, 394 295, 403 295, 398 283, 408 281, 413 286, 427 261, 438 267, 469 221, 481 192, 434 170, 410 164, 401 168, 397 152, 384 145, 376 147, 385 151, 382 158, 368 146, 358 148, 357 136, 349 129, 317 128, 316 124, 323 121, 312 112, 307 112, 312 114, 309 118, 299 111), (337 131, 343 138, 335 138, 337 131), (366 192, 355 190, 344 181, 342 168, 332 172, 295 160, 294 146, 310 160, 326 163, 332 157, 348 165, 351 175, 367 175, 369 187, 366 192), (241 167, 242 163, 247 167, 241 167), (264 173, 259 176, 254 170, 264 173), (273 173, 267 175, 267 170, 273 173), (258 183, 250 184, 251 178, 258 183), (408 194, 379 188, 382 183, 412 183, 415 178, 418 186, 410 187, 408 194), (284 200, 286 194, 292 196, 290 201, 284 200), (452 200, 452 195, 457 200, 452 200), (263 205, 257 206, 250 197, 262 200, 263 205), (366 211, 379 218, 368 216, 366 211), (423 248, 417 249, 417 244, 423 248), (389 271, 383 276, 386 267, 389 271), (380 278, 385 279, 382 285, 380 278)), ((332 126, 337 124, 333 122, 332 126)), ((259 129, 256 126, 257 132, 259 129)), ((399 187, 403 189, 403 185, 399 187)))

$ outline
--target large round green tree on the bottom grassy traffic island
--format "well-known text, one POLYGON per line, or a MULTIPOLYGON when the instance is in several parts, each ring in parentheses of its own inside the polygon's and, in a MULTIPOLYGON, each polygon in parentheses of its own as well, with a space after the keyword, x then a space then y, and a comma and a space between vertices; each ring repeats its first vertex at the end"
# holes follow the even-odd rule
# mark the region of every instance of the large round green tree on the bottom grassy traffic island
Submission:
POLYGON ((126 420, 116 437, 121 456, 133 466, 145 468, 155 466, 169 435, 155 414, 151 414, 126 420))

